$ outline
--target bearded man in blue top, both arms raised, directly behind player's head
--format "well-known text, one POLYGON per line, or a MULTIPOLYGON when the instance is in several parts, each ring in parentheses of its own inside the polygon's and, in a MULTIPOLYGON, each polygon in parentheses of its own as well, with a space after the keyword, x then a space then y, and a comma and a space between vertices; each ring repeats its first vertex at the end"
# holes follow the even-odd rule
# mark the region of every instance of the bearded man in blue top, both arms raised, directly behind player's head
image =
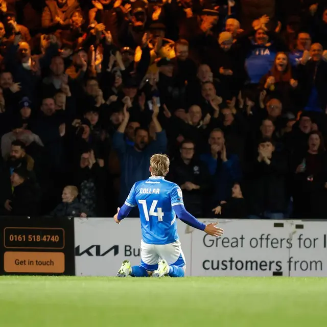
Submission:
POLYGON ((165 153, 167 147, 166 132, 162 130, 157 119, 159 107, 153 101, 152 121, 155 127, 156 140, 149 142, 149 133, 146 128, 135 129, 134 146, 128 145, 124 139, 124 133, 129 120, 127 106, 124 107, 124 121, 114 133, 112 146, 118 152, 121 162, 121 192, 120 203, 123 204, 130 189, 136 181, 149 177, 149 160, 155 153, 165 153))

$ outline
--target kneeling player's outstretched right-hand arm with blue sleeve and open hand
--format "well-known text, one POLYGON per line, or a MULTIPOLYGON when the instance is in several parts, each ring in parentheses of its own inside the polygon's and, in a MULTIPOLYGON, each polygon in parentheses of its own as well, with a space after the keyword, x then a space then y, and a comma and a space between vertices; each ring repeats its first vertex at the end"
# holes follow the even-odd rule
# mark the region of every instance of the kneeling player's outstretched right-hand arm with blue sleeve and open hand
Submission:
POLYGON ((218 222, 205 225, 185 209, 183 202, 183 194, 181 189, 177 185, 173 186, 173 189, 171 191, 171 205, 177 217, 185 224, 188 224, 196 229, 203 230, 205 233, 212 236, 218 237, 223 235, 224 230, 222 228, 216 227, 218 222))

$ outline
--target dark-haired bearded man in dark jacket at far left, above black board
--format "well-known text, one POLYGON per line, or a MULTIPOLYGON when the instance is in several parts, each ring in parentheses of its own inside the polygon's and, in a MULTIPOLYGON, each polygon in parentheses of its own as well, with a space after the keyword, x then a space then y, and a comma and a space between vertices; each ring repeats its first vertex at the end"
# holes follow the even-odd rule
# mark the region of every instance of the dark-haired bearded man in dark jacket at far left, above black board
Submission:
POLYGON ((4 162, 0 172, 1 188, 0 188, 0 203, 5 203, 10 198, 12 193, 10 178, 14 169, 24 168, 32 172, 34 168, 34 160, 26 153, 26 145, 24 142, 16 140, 12 142, 10 156, 4 162))

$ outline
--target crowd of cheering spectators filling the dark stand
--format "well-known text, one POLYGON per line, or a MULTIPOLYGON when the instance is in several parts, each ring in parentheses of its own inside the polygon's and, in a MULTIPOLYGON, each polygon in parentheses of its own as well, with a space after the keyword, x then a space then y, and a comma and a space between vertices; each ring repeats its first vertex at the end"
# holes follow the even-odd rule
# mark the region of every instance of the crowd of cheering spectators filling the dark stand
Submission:
POLYGON ((1 215, 110 217, 167 153, 196 217, 325 218, 326 0, 0 0, 0 20, 1 215))

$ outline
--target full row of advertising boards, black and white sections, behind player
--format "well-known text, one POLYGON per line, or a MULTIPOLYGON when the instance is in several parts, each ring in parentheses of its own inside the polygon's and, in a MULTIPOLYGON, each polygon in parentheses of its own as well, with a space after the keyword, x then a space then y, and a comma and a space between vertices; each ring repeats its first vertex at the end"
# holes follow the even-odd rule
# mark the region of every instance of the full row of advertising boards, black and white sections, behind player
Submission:
MULTIPOLYGON (((203 222, 210 220, 201 219, 203 222)), ((186 275, 327 276, 327 221, 219 219, 222 238, 177 220, 186 275)), ((114 276, 141 259, 139 219, 0 218, 0 274, 114 276)))

